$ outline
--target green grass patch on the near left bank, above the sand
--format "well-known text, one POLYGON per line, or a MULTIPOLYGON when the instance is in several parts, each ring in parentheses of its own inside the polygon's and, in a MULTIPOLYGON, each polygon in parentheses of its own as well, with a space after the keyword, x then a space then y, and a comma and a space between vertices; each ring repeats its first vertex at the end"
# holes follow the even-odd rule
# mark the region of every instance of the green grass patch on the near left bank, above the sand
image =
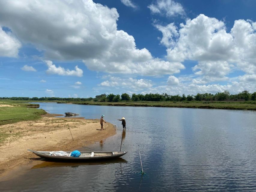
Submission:
POLYGON ((0 100, 0 125, 20 121, 40 119, 46 112, 35 109, 38 104, 21 103, 20 101, 0 100))

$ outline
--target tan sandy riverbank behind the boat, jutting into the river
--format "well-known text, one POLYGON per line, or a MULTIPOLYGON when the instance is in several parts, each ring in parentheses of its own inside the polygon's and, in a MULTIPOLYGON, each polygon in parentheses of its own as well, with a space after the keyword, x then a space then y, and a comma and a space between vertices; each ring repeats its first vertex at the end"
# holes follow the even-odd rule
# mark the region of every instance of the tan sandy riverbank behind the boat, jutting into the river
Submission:
POLYGON ((40 120, 1 125, 1 130, 10 132, 13 136, 0 145, 0 177, 8 175, 22 165, 42 163, 42 161, 34 161, 33 158, 37 156, 27 149, 73 151, 77 147, 116 134, 116 128, 112 124, 106 123, 104 128, 104 131, 100 130, 97 119, 54 118, 50 114, 44 115, 40 120))

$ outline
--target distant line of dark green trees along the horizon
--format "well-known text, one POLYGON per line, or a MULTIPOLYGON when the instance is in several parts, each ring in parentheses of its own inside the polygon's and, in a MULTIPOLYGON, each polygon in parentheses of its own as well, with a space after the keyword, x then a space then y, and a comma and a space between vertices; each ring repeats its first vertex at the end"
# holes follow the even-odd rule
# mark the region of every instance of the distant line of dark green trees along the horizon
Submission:
POLYGON ((167 95, 166 93, 149 93, 146 95, 127 93, 122 95, 101 94, 96 95, 95 98, 59 98, 59 97, 0 97, 0 99, 23 100, 23 101, 101 101, 101 102, 119 102, 119 101, 256 101, 256 92, 249 93, 249 91, 242 91, 238 94, 232 95, 229 91, 218 92, 215 95, 211 93, 197 93, 197 95, 167 95))

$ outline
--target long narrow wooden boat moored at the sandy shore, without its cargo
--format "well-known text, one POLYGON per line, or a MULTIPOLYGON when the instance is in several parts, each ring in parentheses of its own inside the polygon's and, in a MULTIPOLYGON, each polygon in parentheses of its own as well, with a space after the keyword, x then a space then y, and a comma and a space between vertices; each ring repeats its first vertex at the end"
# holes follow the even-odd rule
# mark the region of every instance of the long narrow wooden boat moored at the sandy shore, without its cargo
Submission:
MULTIPOLYGON (((110 158, 117 158, 125 155, 127 152, 80 152, 79 157, 69 157, 69 156, 52 156, 49 151, 33 151, 28 149, 28 151, 34 153, 35 155, 56 161, 88 161, 88 160, 105 160, 110 158)), ((66 152, 70 154, 71 152, 66 152)))

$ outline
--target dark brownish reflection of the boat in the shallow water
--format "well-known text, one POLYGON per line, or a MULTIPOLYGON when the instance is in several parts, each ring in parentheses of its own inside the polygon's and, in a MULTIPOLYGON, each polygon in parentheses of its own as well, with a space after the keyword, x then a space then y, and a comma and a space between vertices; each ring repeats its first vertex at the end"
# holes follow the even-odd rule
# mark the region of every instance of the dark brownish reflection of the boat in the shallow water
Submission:
POLYGON ((33 166, 31 169, 37 169, 37 168, 44 168, 44 167, 78 167, 83 165, 107 165, 107 164, 115 164, 115 163, 127 163, 128 161, 122 159, 122 158, 116 158, 112 161, 109 160, 102 160, 102 161, 88 161, 88 162, 51 162, 51 161, 44 161, 41 164, 33 166))

